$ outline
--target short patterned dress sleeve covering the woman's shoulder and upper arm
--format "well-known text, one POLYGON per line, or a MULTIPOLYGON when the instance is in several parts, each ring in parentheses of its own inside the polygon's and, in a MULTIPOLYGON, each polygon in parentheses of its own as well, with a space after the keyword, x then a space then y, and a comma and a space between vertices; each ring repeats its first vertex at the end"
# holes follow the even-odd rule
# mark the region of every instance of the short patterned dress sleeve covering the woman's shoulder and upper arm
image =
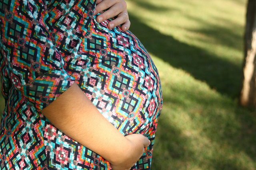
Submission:
POLYGON ((0 50, 14 88, 41 111, 73 83, 51 39, 46 3, 6 0, 0 6, 0 50))

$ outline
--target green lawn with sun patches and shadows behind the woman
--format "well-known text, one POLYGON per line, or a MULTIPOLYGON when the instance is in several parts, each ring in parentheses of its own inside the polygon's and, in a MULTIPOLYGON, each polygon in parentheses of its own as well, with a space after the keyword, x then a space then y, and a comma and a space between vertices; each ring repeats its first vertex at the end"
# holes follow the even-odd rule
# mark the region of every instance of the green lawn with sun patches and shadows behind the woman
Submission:
POLYGON ((237 105, 246 0, 127 0, 164 105, 152 170, 256 169, 256 113, 237 105))

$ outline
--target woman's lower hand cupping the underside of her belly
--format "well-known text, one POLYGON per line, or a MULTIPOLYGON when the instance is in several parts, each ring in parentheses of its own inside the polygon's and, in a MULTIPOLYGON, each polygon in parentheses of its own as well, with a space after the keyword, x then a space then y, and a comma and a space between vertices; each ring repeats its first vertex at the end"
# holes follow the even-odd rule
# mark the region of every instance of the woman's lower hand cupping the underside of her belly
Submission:
POLYGON ((130 170, 144 153, 144 147, 150 145, 150 140, 141 134, 131 134, 125 137, 129 143, 128 148, 123 156, 110 162, 112 170, 130 170))

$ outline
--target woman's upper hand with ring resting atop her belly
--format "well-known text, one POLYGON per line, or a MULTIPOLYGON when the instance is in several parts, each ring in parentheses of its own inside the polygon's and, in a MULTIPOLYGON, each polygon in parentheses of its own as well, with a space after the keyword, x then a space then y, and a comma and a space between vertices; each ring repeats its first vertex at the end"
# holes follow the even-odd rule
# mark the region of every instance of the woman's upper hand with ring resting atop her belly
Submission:
POLYGON ((108 23, 108 27, 112 29, 122 24, 121 29, 123 31, 129 29, 131 23, 128 17, 127 5, 124 0, 97 0, 96 4, 94 15, 109 8, 96 18, 99 23, 109 18, 117 17, 108 23))

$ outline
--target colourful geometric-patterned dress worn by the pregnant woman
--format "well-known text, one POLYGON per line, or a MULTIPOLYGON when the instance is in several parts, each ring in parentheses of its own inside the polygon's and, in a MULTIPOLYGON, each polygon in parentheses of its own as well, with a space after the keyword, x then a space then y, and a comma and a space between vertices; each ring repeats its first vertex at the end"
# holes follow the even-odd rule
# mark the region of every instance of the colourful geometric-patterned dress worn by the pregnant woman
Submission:
MULTIPOLYGON (((159 76, 140 41, 92 16, 94 0, 2 0, 0 74, 6 107, 1 170, 109 170, 40 112, 73 83, 123 135, 151 145, 132 169, 150 169, 162 108, 159 76)), ((100 147, 100 146, 99 146, 100 147)))

